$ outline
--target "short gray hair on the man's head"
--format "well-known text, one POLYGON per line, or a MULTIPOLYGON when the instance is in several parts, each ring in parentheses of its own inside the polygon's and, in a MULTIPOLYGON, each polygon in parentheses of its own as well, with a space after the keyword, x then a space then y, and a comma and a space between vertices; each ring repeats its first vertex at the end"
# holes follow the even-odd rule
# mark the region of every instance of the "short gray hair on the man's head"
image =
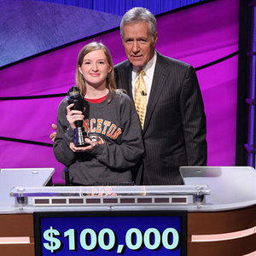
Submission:
POLYGON ((120 24, 121 37, 124 38, 125 24, 138 21, 148 22, 148 30, 154 39, 156 36, 156 20, 154 15, 148 9, 143 7, 135 7, 125 13, 120 24))

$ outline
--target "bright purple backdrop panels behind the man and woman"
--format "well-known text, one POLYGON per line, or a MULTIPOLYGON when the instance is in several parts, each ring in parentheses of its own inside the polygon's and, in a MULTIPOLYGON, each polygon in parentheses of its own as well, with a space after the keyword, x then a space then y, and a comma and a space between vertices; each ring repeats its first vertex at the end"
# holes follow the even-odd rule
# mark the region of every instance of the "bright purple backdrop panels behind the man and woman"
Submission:
MULTIPOLYGON (((156 49, 200 67, 238 49, 238 0, 217 0, 158 18, 156 49)), ((119 31, 95 38, 107 44, 114 63, 125 60, 119 31)), ((91 41, 91 40, 90 40, 91 41)), ((0 96, 67 92, 74 84, 76 58, 84 44, 74 44, 0 70, 0 96)), ((234 166, 236 158, 236 79, 238 57, 197 72, 207 113, 208 166, 234 166)), ((50 143, 51 123, 61 98, 0 102, 0 136, 50 143)), ((0 141, 0 167, 55 167, 52 148, 0 141)))

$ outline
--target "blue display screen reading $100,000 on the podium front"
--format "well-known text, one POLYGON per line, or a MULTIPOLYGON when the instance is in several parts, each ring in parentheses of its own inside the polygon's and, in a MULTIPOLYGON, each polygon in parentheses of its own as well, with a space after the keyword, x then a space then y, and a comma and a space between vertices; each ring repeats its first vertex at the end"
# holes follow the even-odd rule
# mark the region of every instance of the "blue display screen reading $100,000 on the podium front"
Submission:
POLYGON ((39 218, 40 224, 35 223, 41 227, 40 238, 36 236, 37 255, 185 255, 187 234, 182 216, 135 212, 132 216, 82 215, 69 212, 39 218))

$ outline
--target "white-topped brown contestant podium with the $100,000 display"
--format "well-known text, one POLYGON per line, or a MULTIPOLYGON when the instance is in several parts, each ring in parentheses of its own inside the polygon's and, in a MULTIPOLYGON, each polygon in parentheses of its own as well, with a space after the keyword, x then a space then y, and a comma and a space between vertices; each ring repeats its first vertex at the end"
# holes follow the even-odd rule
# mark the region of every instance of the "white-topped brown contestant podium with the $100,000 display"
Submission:
POLYGON ((252 167, 180 167, 182 186, 45 187, 53 172, 1 170, 3 255, 80 255, 79 249, 98 255, 256 251, 252 167))

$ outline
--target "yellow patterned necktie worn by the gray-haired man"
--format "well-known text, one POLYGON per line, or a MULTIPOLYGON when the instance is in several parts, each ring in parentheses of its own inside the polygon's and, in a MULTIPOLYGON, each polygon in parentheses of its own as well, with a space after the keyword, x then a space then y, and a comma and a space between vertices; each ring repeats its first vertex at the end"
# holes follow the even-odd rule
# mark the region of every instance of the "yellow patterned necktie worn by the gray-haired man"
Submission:
POLYGON ((147 90, 146 90, 145 81, 143 79, 144 75, 145 75, 145 72, 143 69, 139 71, 139 77, 135 84, 135 93, 134 93, 135 108, 137 110, 137 113, 142 125, 142 129, 143 129, 146 110, 147 110, 147 90))

